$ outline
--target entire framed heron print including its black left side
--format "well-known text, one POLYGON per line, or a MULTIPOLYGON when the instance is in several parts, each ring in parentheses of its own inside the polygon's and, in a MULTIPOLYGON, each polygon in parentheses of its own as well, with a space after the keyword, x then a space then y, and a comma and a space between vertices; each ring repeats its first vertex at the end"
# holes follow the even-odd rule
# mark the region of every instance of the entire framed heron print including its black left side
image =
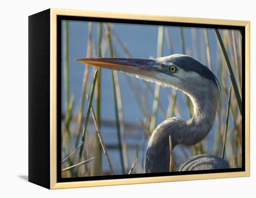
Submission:
POLYGON ((249 21, 29 16, 29 181, 249 176, 249 21))

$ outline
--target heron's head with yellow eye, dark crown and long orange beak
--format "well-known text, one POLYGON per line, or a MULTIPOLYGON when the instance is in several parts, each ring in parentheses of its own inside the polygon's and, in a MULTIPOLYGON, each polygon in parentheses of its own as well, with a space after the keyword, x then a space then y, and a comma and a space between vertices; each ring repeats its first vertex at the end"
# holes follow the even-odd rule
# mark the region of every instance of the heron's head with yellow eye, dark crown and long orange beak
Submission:
POLYGON ((216 76, 191 56, 173 54, 157 59, 86 58, 77 59, 82 63, 125 72, 137 78, 172 86, 184 92, 215 86, 219 90, 216 76))

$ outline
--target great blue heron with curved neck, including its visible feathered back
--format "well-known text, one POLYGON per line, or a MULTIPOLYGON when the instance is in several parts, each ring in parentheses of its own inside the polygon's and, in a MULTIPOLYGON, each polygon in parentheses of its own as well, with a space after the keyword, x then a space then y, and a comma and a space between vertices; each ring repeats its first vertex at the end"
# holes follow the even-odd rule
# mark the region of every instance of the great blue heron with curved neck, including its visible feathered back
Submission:
MULTIPOLYGON (((195 145, 209 133, 216 115, 220 85, 209 68, 193 57, 173 54, 157 59, 86 58, 78 61, 179 89, 191 99, 194 106, 191 119, 169 118, 152 132, 148 141, 146 172, 169 172, 169 136, 174 148, 179 144, 195 145)), ((229 168, 229 164, 222 158, 202 154, 184 161, 177 171, 224 168, 229 168)))

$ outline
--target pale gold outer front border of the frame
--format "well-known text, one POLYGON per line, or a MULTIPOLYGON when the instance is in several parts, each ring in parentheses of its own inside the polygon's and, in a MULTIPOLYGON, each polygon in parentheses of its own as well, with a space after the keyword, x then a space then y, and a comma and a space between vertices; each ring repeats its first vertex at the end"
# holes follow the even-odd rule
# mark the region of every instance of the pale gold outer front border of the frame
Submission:
POLYGON ((249 161, 249 130, 250 130, 250 23, 242 20, 220 20, 220 19, 203 19, 190 17, 174 17, 174 16, 157 16, 145 14, 129 14, 129 13, 110 13, 110 12, 94 12, 81 10, 65 10, 53 9, 50 11, 50 188, 78 188, 103 185, 128 185, 141 183, 156 183, 198 179, 214 179, 214 178, 234 178, 249 177, 250 161, 249 161), (192 174, 192 175, 175 175, 148 178, 124 178, 124 179, 107 179, 93 181, 77 181, 77 182, 61 182, 57 183, 57 15, 63 16, 81 16, 81 17, 101 17, 115 19, 130 20, 153 20, 153 21, 169 21, 169 22, 186 22, 197 24, 211 25, 232 25, 245 27, 245 171, 244 172, 222 172, 208 174, 192 174))

